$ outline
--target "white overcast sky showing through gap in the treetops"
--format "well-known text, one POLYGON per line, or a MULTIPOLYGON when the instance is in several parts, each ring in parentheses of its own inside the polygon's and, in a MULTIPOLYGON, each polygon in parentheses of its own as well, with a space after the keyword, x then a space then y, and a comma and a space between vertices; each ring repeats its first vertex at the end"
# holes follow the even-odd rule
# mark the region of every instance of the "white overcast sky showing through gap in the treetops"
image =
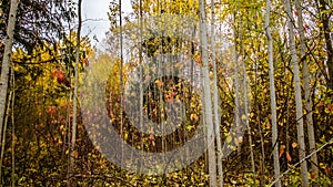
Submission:
MULTIPOLYGON (((92 44, 101 48, 101 41, 105 38, 105 32, 109 30, 110 22, 108 20, 109 4, 111 0, 83 0, 82 1, 82 34, 89 35, 92 44), (93 40, 97 37, 99 43, 93 40)), ((131 12, 131 0, 121 0, 124 12, 131 12)))

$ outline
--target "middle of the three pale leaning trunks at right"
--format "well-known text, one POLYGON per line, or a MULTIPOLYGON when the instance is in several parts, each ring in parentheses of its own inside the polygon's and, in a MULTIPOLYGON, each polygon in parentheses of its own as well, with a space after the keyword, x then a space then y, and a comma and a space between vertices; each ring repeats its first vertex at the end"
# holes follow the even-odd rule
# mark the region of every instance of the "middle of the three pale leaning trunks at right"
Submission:
MULTIPOLYGON (((301 79, 300 79, 300 67, 299 58, 296 54, 295 38, 294 38, 294 25, 293 25, 293 14, 291 11, 290 0, 285 0, 285 10, 287 13, 287 27, 289 27, 289 45, 293 62, 293 74, 294 74, 294 86, 295 86, 295 102, 296 102, 296 120, 297 120, 297 142, 299 142, 299 157, 302 160, 305 157, 305 141, 304 141, 304 129, 303 129, 303 106, 302 106, 302 95, 301 95, 301 79)), ((301 163, 301 177, 302 186, 309 186, 307 178, 307 164, 306 162, 301 163)))

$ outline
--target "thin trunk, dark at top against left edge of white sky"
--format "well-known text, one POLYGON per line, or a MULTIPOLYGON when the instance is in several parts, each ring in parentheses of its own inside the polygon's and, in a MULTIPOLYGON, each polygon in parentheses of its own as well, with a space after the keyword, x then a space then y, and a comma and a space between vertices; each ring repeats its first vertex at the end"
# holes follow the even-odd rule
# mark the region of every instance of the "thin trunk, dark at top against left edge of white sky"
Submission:
POLYGON ((74 149, 75 149, 75 142, 77 142, 77 114, 78 114, 78 82, 79 82, 79 61, 80 61, 80 38, 81 38, 81 25, 82 25, 82 18, 81 18, 81 8, 82 8, 82 0, 78 2, 78 33, 77 33, 77 52, 75 52, 75 67, 74 67, 74 96, 73 96, 73 125, 72 125, 72 137, 71 137, 71 149, 70 149, 70 179, 69 186, 71 186, 72 177, 74 174, 74 149))

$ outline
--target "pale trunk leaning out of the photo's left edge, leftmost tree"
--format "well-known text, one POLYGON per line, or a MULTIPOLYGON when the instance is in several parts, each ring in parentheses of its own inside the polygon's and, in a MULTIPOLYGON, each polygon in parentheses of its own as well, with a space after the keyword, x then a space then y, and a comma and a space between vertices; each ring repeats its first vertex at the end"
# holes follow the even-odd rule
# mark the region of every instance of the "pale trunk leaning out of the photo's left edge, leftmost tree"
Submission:
POLYGON ((3 120, 6 113, 6 103, 7 103, 7 90, 8 90, 8 80, 9 80, 9 66, 11 59, 11 49, 13 43, 14 27, 17 21, 17 11, 18 11, 19 1, 10 1, 10 11, 7 25, 7 37, 4 44, 4 52, 1 66, 1 82, 0 82, 0 142, 2 139, 2 128, 3 120))

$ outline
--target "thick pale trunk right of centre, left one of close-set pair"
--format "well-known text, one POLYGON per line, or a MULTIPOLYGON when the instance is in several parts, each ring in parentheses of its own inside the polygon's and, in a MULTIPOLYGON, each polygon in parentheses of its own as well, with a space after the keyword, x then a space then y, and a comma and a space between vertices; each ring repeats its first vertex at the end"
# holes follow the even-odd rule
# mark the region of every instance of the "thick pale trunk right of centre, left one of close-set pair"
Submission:
POLYGON ((214 144, 214 126, 212 116, 212 100, 211 85, 209 76, 209 56, 208 56, 208 27, 205 19, 204 0, 199 0, 200 4, 200 39, 202 45, 203 61, 203 93, 204 93, 204 114, 205 124, 208 125, 208 155, 209 155, 209 174, 210 186, 216 187, 216 160, 215 160, 215 144, 214 144))

